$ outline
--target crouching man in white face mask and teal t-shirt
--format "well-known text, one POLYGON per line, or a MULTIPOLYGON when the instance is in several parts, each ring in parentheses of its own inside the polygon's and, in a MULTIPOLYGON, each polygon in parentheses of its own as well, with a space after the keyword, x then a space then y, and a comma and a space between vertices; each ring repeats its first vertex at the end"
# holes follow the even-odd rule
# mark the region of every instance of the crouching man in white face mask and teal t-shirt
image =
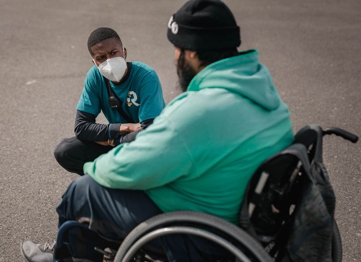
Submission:
POLYGON ((156 72, 145 63, 126 62, 127 49, 113 29, 94 30, 88 50, 94 66, 78 102, 76 136, 63 139, 54 151, 62 167, 79 175, 85 162, 133 141, 165 106, 156 72), (95 122, 100 110, 109 124, 95 122))

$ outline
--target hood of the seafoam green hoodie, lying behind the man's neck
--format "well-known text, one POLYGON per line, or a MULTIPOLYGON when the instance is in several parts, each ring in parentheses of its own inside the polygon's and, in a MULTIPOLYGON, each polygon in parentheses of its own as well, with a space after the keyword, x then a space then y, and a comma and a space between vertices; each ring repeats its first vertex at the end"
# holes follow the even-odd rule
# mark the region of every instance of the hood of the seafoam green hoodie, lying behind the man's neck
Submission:
POLYGON ((204 88, 226 89, 269 111, 277 109, 281 101, 271 74, 259 62, 257 50, 240 52, 206 66, 189 83, 187 91, 204 88))

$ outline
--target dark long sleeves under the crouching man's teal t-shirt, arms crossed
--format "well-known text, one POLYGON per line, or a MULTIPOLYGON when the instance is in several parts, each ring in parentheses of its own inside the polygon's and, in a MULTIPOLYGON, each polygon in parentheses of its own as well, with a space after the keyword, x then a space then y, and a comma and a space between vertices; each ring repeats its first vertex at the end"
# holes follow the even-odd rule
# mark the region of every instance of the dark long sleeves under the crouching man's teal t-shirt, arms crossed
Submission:
POLYGON ((137 134, 153 123, 154 119, 147 119, 140 122, 141 128, 138 131, 119 135, 120 123, 98 124, 95 122, 95 115, 77 110, 75 117, 75 136, 84 141, 107 141, 114 139, 114 144, 131 142, 137 134))

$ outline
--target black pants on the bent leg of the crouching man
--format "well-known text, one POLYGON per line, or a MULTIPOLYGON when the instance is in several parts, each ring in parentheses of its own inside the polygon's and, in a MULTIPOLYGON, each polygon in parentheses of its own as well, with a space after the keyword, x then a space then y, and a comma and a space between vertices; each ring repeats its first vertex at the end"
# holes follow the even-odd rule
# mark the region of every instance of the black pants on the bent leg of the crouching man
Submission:
POLYGON ((76 137, 64 138, 55 148, 54 156, 67 171, 82 176, 85 162, 94 161, 112 148, 112 146, 100 145, 96 142, 80 141, 76 137))

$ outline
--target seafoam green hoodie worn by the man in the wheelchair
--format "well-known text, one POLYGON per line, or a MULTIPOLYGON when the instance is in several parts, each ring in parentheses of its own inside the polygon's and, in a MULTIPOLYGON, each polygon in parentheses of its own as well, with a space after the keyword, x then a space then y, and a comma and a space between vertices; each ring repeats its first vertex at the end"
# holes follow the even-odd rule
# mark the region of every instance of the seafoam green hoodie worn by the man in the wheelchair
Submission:
POLYGON ((289 115, 249 50, 205 67, 135 141, 85 163, 84 173, 106 187, 145 190, 164 212, 238 224, 251 175, 293 141, 289 115))

